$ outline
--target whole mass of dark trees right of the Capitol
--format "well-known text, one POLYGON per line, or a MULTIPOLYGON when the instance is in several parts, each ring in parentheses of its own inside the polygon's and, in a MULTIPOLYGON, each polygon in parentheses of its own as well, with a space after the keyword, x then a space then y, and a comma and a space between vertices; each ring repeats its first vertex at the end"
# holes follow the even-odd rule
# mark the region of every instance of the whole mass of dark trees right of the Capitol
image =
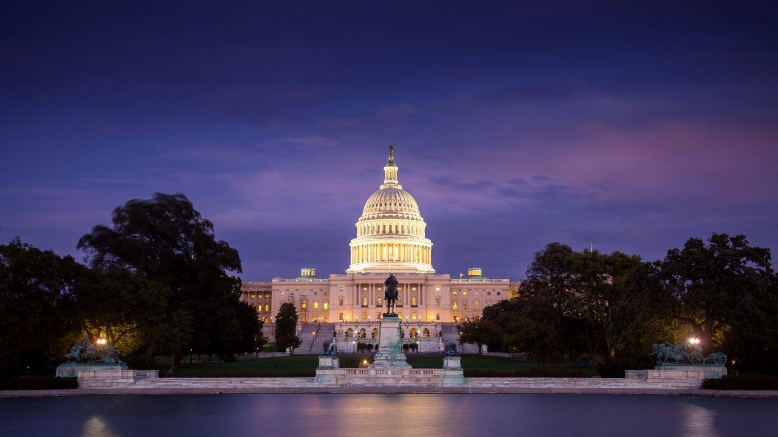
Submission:
POLYGON ((517 297, 461 324, 462 341, 528 352, 552 365, 589 361, 602 376, 650 369, 651 344, 700 339, 744 372, 778 372, 778 288, 769 249, 745 236, 692 238, 664 260, 576 252, 534 253, 517 297))

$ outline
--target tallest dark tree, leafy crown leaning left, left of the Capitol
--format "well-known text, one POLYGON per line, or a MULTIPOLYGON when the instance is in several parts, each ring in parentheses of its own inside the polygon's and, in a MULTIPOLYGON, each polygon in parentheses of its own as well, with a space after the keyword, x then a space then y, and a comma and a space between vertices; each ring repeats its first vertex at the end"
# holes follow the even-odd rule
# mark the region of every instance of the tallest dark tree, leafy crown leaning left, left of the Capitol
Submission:
POLYGON ((236 321, 240 303, 240 257, 229 244, 216 240, 213 224, 202 218, 184 194, 156 193, 114 209, 113 228, 96 225, 79 239, 92 267, 136 271, 170 290, 163 325, 191 320, 191 341, 184 333, 163 331, 149 337, 145 355, 152 358, 161 344, 173 352, 180 372, 184 351, 225 355, 240 344, 236 321))

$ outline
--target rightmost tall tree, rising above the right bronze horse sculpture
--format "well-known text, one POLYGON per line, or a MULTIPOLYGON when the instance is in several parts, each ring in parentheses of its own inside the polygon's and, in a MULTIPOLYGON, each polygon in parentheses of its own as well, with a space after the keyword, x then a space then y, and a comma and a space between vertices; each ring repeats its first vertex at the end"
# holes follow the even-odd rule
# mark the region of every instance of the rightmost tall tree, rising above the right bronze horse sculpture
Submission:
POLYGON ((730 327, 734 309, 749 296, 763 293, 773 271, 770 251, 752 247, 745 236, 713 233, 708 244, 686 240, 682 250, 668 250, 661 268, 661 303, 675 320, 689 326, 703 348, 730 327))

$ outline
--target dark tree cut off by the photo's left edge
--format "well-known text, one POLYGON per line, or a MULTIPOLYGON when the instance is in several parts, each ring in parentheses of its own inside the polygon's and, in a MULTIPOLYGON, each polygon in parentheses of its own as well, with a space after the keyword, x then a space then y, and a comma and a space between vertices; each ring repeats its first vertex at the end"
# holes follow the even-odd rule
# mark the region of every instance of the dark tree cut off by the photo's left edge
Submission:
POLYGON ((0 245, 0 383, 51 374, 83 335, 72 289, 85 268, 19 238, 0 245))

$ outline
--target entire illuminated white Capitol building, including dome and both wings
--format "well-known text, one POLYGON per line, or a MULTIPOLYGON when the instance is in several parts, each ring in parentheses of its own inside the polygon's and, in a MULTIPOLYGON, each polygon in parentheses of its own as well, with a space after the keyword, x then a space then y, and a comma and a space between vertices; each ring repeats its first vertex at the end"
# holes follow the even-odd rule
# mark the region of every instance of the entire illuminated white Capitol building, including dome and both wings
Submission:
POLYGON ((399 281, 395 312, 403 320, 404 340, 415 342, 419 351, 437 351, 441 339, 456 334, 455 323, 477 319, 485 306, 509 299, 518 282, 488 278, 474 267, 459 278, 437 273, 426 226, 419 205, 399 183, 390 148, 384 183, 367 198, 356 221, 345 273, 322 278, 314 268, 303 268, 296 278, 245 281, 241 299, 258 309, 266 335, 279 306, 291 302, 300 317, 301 348, 310 344, 314 351, 335 337, 348 350, 357 341, 378 341, 377 322, 386 310, 384 280, 394 272, 399 281))

